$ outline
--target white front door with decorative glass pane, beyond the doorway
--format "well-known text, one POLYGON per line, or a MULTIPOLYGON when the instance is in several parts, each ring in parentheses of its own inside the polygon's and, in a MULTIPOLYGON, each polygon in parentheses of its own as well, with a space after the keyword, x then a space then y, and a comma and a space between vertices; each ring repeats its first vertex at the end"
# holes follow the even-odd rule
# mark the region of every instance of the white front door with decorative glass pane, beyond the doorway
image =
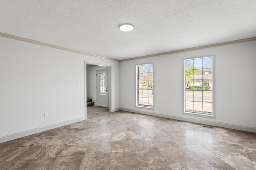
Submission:
POLYGON ((108 107, 108 70, 97 71, 97 106, 108 107))

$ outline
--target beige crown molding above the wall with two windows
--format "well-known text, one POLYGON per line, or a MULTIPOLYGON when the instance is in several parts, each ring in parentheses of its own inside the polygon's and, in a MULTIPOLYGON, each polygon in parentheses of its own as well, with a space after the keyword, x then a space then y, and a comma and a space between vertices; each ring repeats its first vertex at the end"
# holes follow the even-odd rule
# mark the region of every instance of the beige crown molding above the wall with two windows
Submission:
POLYGON ((144 58, 148 58, 148 57, 156 57, 156 56, 160 56, 160 55, 182 53, 182 52, 186 52, 186 51, 206 49, 206 48, 210 48, 210 47, 218 47, 218 46, 222 46, 222 45, 230 45, 230 44, 243 43, 243 42, 246 42, 246 41, 255 41, 255 40, 256 40, 256 37, 246 38, 246 39, 239 39, 239 40, 228 41, 228 42, 224 42, 224 43, 216 43, 216 44, 211 44, 211 45, 203 45, 203 46, 192 47, 192 48, 188 48, 188 49, 181 49, 181 50, 176 50, 176 51, 169 51, 169 52, 164 52, 164 53, 145 55, 145 56, 141 56, 141 57, 134 57, 134 58, 130 58, 130 59, 123 59, 123 60, 120 60, 120 61, 130 61, 130 60, 136 60, 136 59, 144 59, 144 58))

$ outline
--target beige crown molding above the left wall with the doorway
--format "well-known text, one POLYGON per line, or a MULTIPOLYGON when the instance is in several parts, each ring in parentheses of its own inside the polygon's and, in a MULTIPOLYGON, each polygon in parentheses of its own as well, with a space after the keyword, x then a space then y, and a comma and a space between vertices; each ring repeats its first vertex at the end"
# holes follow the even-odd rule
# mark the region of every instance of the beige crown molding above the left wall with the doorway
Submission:
POLYGON ((54 48, 54 49, 69 51, 69 52, 73 52, 73 53, 79 53, 79 54, 83 54, 83 55, 90 55, 90 56, 94 56, 94 57, 100 57, 100 58, 102 58, 102 59, 108 59, 108 60, 113 60, 113 61, 120 61, 120 60, 117 60, 117 59, 111 59, 111 58, 103 57, 103 56, 100 56, 100 55, 94 55, 94 54, 90 54, 90 53, 84 53, 84 52, 82 52, 82 51, 72 50, 72 49, 60 47, 60 46, 57 46, 57 45, 52 45, 52 44, 48 44, 48 43, 43 43, 43 42, 40 42, 40 41, 35 41, 35 40, 32 40, 32 39, 27 39, 27 38, 23 38, 23 37, 18 37, 18 36, 6 34, 6 33, 0 33, 0 37, 15 39, 15 40, 18 40, 18 41, 24 41, 24 42, 27 42, 27 43, 42 45, 42 46, 51 47, 51 48, 54 48))

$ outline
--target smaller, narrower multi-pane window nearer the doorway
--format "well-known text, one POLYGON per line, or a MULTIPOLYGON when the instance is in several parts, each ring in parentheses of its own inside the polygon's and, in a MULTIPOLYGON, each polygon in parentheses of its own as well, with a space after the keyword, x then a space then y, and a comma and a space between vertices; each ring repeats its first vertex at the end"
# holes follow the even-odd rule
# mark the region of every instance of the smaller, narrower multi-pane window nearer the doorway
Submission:
POLYGON ((136 65, 136 106, 153 109, 153 63, 136 65))

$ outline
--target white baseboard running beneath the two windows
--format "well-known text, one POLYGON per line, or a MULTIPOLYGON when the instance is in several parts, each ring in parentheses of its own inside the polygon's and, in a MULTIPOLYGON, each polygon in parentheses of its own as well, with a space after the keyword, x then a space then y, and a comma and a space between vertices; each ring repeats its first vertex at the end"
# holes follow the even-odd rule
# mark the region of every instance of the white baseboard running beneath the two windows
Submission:
POLYGON ((206 121, 206 120, 194 119, 194 118, 189 118, 189 117, 167 115, 167 114, 163 114, 163 113, 156 113, 156 112, 150 112, 150 111, 144 111, 144 110, 127 109, 127 108, 123 108, 123 107, 121 107, 120 110, 256 133, 256 128, 254 128, 254 127, 240 126, 240 125, 220 123, 220 122, 214 122, 214 121, 206 121))

